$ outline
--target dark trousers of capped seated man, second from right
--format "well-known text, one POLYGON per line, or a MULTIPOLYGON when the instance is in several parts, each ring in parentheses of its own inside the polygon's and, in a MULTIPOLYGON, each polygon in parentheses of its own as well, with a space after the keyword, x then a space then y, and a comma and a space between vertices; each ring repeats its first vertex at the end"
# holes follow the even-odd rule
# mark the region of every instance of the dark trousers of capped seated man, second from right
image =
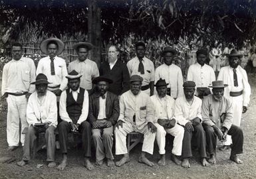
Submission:
POLYGON ((184 127, 184 138, 182 143, 182 157, 188 158, 192 156, 192 148, 191 141, 192 137, 196 140, 196 146, 199 149, 199 154, 201 158, 206 157, 206 139, 205 139, 205 131, 203 131, 203 126, 193 125, 193 132, 188 131, 186 127, 184 127))

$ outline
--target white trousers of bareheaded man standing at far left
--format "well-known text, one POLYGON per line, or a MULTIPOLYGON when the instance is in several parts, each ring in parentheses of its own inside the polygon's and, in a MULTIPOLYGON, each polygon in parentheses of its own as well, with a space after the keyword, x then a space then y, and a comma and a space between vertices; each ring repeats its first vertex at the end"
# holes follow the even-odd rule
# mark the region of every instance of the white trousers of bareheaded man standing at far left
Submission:
POLYGON ((26 118, 27 98, 25 95, 8 95, 7 103, 7 143, 9 146, 19 146, 19 137, 21 137, 21 144, 24 145, 25 135, 21 133, 25 127, 28 127, 26 118), (20 119, 21 131, 19 131, 20 119))

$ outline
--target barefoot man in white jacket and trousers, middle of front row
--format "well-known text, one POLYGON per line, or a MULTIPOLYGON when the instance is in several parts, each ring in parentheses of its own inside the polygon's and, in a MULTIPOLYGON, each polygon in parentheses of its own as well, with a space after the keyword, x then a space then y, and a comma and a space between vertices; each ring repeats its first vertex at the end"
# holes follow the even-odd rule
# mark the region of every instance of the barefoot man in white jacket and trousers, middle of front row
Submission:
POLYGON ((142 81, 141 76, 131 76, 130 90, 120 97, 120 115, 114 134, 116 137, 116 154, 124 154, 124 156, 116 162, 116 166, 122 166, 130 160, 126 147, 126 135, 133 131, 144 134, 139 162, 154 166, 154 163, 146 158, 146 152, 153 154, 154 151, 156 137, 156 127, 152 123, 154 111, 150 96, 141 91, 142 81))

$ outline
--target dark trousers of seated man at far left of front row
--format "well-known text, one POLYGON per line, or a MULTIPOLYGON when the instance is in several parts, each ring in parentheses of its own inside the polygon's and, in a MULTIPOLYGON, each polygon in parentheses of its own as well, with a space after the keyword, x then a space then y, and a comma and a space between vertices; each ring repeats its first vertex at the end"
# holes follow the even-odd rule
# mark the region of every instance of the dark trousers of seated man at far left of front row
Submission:
POLYGON ((55 160, 55 128, 56 127, 52 125, 47 129, 37 128, 31 125, 25 135, 23 160, 30 160, 31 153, 33 152, 33 148, 35 147, 39 133, 45 132, 45 141, 47 143, 47 161, 53 162, 55 160))

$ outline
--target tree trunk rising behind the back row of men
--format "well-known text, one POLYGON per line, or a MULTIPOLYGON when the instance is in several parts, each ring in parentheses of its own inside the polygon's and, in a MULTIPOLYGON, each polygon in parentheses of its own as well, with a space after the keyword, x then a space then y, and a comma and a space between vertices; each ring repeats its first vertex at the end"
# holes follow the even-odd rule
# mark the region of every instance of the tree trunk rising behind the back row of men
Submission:
POLYGON ((99 66, 101 56, 101 10, 96 0, 89 0, 88 5, 88 40, 94 45, 90 52, 90 59, 99 66))

